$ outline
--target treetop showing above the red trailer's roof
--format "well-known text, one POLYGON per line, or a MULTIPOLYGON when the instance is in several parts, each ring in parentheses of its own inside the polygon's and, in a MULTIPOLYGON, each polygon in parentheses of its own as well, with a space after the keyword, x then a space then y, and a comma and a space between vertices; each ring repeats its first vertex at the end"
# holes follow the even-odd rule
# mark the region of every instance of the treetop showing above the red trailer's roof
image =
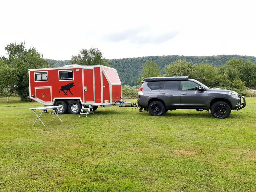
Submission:
POLYGON ((71 63, 77 65, 105 65, 110 66, 110 61, 103 58, 101 51, 96 47, 82 49, 80 54, 71 57, 71 63))

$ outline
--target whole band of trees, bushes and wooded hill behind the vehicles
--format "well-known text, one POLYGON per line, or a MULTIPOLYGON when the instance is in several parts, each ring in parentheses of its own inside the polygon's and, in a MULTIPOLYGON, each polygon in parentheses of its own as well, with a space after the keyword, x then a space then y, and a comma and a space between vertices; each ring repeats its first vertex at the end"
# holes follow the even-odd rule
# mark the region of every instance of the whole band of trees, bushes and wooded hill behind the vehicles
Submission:
POLYGON ((0 57, 0 97, 27 97, 28 69, 62 67, 63 65, 105 65, 116 68, 126 96, 137 95, 143 77, 189 76, 207 86, 226 88, 249 96, 248 88, 256 88, 256 57, 239 55, 218 56, 149 56, 105 59, 96 48, 82 49, 71 60, 45 59, 36 48, 25 43, 5 46, 6 56, 0 57), (128 89, 127 89, 128 88, 128 89))

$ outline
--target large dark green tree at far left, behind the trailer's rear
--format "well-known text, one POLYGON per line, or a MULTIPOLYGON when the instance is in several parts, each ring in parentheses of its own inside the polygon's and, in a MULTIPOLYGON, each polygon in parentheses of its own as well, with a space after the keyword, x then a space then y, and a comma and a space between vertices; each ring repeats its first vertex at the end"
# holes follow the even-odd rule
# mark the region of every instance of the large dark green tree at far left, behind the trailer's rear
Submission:
POLYGON ((27 97, 28 69, 48 68, 43 56, 33 47, 25 49, 25 43, 5 46, 7 57, 0 58, 0 86, 15 87, 20 97, 27 97))

